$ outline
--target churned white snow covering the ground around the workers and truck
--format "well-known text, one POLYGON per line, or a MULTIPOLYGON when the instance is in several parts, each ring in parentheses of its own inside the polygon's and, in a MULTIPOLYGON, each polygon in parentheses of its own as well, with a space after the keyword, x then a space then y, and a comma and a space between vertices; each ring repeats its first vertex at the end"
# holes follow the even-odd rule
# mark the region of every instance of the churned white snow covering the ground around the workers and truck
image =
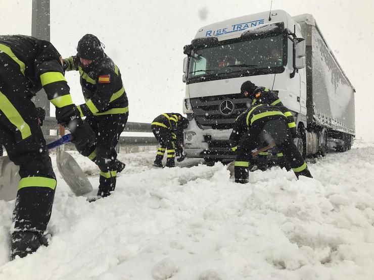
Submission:
MULTIPOLYGON (((50 245, 26 258, 9 261, 14 201, 0 201, 1 279, 374 279, 374 143, 309 163, 314 179, 273 167, 246 185, 221 163, 119 158, 108 198, 58 181, 50 245)), ((76 160, 96 192, 98 169, 76 160)))

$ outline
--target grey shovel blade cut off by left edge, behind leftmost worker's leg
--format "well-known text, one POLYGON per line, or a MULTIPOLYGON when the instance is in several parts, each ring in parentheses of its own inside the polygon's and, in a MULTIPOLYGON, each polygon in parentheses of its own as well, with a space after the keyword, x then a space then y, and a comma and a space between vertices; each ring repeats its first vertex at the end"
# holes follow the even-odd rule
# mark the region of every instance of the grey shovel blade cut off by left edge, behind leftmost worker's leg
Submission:
POLYGON ((18 171, 19 166, 8 156, 0 157, 0 199, 5 201, 16 199, 18 183, 21 180, 18 171))

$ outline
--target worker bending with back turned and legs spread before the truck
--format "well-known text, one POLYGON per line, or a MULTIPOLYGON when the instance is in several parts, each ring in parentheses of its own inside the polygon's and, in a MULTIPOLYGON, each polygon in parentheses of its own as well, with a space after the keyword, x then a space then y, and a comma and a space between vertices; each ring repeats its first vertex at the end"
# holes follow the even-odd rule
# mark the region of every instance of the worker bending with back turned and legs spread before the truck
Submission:
POLYGON ((263 142, 275 143, 290 163, 297 178, 299 176, 312 177, 306 162, 291 138, 287 117, 280 108, 267 104, 258 104, 248 108, 235 121, 230 140, 235 141, 237 135, 241 133, 243 136, 236 148, 235 182, 243 184, 248 182, 248 166, 252 150, 263 142))

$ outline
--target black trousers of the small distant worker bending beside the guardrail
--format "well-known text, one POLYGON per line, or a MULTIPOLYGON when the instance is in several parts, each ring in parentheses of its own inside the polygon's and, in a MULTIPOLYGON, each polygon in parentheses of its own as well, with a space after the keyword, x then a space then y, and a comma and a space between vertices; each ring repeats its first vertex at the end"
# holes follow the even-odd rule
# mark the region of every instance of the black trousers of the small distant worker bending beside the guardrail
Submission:
POLYGON ((175 142, 173 136, 171 135, 171 131, 167 128, 160 127, 157 125, 151 126, 152 132, 155 135, 157 141, 160 143, 156 159, 155 165, 161 165, 162 159, 164 157, 165 151, 167 151, 167 159, 166 159, 166 166, 167 167, 174 167, 175 166, 175 142))

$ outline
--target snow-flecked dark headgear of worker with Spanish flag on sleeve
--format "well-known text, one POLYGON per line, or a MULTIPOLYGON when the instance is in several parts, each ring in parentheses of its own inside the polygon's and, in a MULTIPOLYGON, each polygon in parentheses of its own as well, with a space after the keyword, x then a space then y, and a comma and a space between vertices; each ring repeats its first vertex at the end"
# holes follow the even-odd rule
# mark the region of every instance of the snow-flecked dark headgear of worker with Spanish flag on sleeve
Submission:
POLYGON ((82 59, 97 61, 104 58, 101 42, 92 34, 86 34, 79 40, 77 51, 78 57, 82 59))

